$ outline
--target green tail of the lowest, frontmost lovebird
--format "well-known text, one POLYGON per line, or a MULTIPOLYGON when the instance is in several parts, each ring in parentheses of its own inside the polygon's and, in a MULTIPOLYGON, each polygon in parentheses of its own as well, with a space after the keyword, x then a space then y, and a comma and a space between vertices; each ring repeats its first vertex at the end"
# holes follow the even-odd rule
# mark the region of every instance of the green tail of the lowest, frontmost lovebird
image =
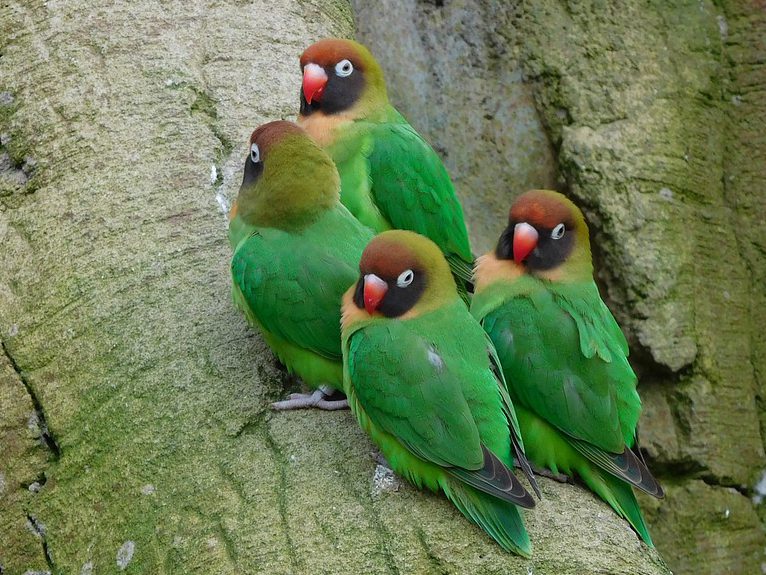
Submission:
POLYGON ((460 512, 477 523, 506 551, 523 557, 532 555, 532 543, 518 507, 482 493, 459 481, 450 481, 444 492, 460 512))

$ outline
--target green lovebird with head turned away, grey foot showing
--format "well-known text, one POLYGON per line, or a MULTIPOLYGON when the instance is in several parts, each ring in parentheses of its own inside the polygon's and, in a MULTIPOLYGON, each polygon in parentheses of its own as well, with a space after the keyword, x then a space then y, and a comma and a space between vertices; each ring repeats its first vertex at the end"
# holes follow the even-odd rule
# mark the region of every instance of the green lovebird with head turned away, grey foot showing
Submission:
POLYGON ((332 160, 298 126, 255 130, 229 214, 234 302, 291 373, 317 391, 275 409, 339 409, 340 304, 372 237, 340 203, 332 160))

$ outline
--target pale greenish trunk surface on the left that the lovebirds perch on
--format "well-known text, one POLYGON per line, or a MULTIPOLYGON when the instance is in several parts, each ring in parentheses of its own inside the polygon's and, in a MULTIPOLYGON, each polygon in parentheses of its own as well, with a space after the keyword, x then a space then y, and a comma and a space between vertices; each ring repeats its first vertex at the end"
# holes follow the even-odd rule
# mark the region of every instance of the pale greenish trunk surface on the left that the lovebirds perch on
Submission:
POLYGON ((268 410, 294 383, 221 205, 302 49, 352 32, 341 1, 0 5, 3 574, 667 573, 579 487, 542 481, 527 561, 349 413, 268 410))

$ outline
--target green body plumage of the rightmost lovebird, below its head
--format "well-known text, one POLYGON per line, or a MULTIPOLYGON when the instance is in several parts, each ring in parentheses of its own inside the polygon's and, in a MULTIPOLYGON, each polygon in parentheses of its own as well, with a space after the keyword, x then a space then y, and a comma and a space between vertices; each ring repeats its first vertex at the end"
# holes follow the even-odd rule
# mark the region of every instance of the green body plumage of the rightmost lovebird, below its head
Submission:
MULTIPOLYGON (((595 457, 584 455, 573 441, 581 439, 605 452, 607 462, 607 454, 620 454, 635 442, 641 403, 636 377, 619 353, 622 332, 611 314, 607 322, 605 314, 582 315, 575 311, 577 304, 553 292, 551 285, 539 284, 535 290, 538 282, 524 276, 505 297, 498 292, 506 286, 495 284, 494 294, 482 291, 473 302, 477 319, 497 347, 527 455, 554 473, 580 476, 652 545, 630 485, 607 473, 606 465, 592 461, 595 457), (485 313, 487 308, 491 311, 485 313), (612 337, 609 328, 616 328, 619 337, 612 337)), ((563 291, 572 298, 578 287, 586 296, 578 302, 582 309, 596 286, 565 286, 563 291)), ((599 311, 601 299, 590 299, 595 307, 590 311, 599 311)))

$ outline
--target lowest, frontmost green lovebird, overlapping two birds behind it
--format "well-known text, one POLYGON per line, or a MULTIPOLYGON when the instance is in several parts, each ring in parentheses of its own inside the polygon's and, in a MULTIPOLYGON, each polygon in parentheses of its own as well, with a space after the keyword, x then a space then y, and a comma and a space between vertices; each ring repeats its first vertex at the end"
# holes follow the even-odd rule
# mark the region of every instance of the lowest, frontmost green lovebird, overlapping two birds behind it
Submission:
POLYGON ((536 488, 492 342, 457 293, 431 240, 380 234, 343 296, 344 391, 391 467, 441 489, 504 549, 532 547, 517 505, 536 488))

